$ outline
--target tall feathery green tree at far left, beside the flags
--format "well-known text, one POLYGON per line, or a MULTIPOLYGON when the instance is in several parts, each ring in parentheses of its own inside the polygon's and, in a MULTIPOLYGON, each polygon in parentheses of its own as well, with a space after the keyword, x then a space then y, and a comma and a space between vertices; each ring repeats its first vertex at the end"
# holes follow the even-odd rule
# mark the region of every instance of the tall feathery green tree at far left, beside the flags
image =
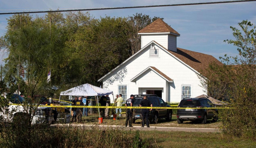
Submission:
POLYGON ((5 65, 6 80, 24 82, 25 92, 30 96, 49 86, 46 83, 49 68, 52 66, 54 69, 62 59, 61 49, 64 42, 61 29, 52 25, 50 35, 49 21, 42 20, 41 17, 32 19, 27 14, 13 15, 8 19, 8 31, 4 37, 9 52, 5 65), (21 67, 25 69, 24 79, 18 74, 21 67))

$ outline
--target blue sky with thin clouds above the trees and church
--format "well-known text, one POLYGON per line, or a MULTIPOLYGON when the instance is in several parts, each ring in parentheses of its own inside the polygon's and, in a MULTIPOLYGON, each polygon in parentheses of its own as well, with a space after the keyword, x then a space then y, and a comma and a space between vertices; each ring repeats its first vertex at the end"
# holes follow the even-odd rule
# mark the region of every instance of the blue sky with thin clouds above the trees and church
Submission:
MULTIPOLYGON (((0 12, 37 11, 33 9, 74 9, 127 7, 144 5, 164 5, 209 2, 206 0, 0 0, 0 12)), ((221 0, 212 0, 221 1, 221 0)), ((256 2, 230 3, 214 5, 155 7, 120 10, 90 11, 95 18, 101 16, 127 17, 135 13, 143 13, 151 17, 163 17, 164 21, 180 33, 177 47, 196 52, 210 54, 219 59, 228 54, 237 55, 236 47, 224 43, 223 40, 234 39, 230 26, 238 27, 237 23, 249 20, 256 24, 256 2)), ((35 15, 44 15, 32 14, 35 15)), ((7 18, 11 15, 0 15, 0 36, 7 30, 7 18)), ((0 65, 7 56, 0 52, 0 65)))

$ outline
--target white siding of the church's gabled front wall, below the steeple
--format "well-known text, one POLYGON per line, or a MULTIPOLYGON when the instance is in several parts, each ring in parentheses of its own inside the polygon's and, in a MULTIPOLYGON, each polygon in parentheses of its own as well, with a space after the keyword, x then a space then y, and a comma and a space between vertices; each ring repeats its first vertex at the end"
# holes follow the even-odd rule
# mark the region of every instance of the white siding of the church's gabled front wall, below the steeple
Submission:
MULTIPOLYGON (((156 41, 157 42, 157 41, 156 41)), ((132 57, 129 61, 118 67, 112 73, 103 78, 103 88, 112 90, 114 95, 117 94, 117 85, 127 85, 127 96, 138 94, 140 87, 161 87, 166 88, 162 98, 164 101, 180 102, 181 100, 181 85, 191 85, 191 97, 196 97, 204 94, 203 89, 199 86, 200 80, 195 71, 191 70, 183 63, 173 58, 165 49, 152 43, 155 48, 161 50, 160 58, 149 58, 150 45, 139 54, 132 57), (155 76, 154 79, 148 79, 148 76, 143 78, 143 81, 131 82, 130 80, 137 74, 145 70, 149 66, 154 66, 168 77, 173 79, 173 83, 169 83, 161 77, 155 76), (162 80, 165 82, 162 82, 162 80)), ((151 75, 154 75, 152 72, 151 75)), ((149 75, 150 76, 150 75, 149 75)), ((113 98, 111 98, 113 100, 113 98)))

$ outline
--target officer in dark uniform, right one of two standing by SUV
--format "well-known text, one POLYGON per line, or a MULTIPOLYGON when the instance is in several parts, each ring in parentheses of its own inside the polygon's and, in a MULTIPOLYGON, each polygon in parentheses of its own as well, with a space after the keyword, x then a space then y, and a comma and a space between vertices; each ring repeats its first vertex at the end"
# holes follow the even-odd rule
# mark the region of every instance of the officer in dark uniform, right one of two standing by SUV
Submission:
MULTIPOLYGON (((147 99, 147 96, 144 96, 143 97, 143 100, 140 102, 140 107, 153 107, 152 103, 147 99)), ((147 127, 149 127, 149 121, 148 121, 148 118, 149 118, 149 111, 151 111, 152 108, 149 110, 149 109, 142 109, 142 112, 141 112, 141 115, 142 115, 142 126, 141 127, 144 127, 144 124, 145 124, 145 118, 146 118, 146 125, 147 127)))

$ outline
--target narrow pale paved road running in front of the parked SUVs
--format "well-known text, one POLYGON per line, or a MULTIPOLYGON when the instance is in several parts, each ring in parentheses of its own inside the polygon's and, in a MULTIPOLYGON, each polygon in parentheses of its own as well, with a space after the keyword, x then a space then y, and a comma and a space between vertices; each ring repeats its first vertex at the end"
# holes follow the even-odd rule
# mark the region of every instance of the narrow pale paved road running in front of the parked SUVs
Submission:
MULTIPOLYGON (((51 126, 67 126, 69 124, 54 124, 51 126)), ((115 129, 122 129, 122 130, 131 130, 137 129, 141 131, 184 131, 184 132, 221 132, 220 129, 215 128, 183 128, 183 127, 158 127, 158 126, 150 126, 150 128, 140 127, 140 126, 133 126, 133 127, 124 127, 120 125, 93 125, 93 124, 70 124, 71 126, 78 126, 78 127, 86 127, 88 129, 99 127, 101 129, 105 128, 115 128, 115 129)))

